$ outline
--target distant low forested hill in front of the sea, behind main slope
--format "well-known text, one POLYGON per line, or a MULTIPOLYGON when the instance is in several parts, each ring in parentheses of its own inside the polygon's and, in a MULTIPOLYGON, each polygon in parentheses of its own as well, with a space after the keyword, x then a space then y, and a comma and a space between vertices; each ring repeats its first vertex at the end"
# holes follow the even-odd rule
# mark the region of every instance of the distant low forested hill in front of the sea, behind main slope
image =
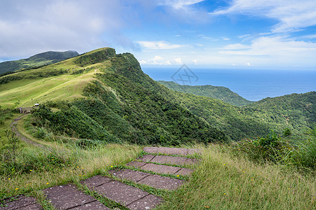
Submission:
POLYGON ((239 96, 239 94, 232 92, 228 87, 218 87, 212 85, 179 85, 172 81, 162 80, 159 80, 157 82, 174 91, 191 93, 199 96, 210 97, 213 99, 220 99, 220 101, 235 106, 244 106, 253 103, 239 96))

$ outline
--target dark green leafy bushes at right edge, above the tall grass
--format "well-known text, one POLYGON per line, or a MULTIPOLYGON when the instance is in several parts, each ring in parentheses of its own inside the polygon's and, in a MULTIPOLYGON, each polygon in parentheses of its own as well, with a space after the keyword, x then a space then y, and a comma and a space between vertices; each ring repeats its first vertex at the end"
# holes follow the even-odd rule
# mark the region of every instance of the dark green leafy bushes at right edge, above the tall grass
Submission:
POLYGON ((316 138, 289 142, 274 131, 265 137, 245 139, 232 144, 235 154, 244 154, 254 162, 273 162, 299 168, 316 169, 316 138))

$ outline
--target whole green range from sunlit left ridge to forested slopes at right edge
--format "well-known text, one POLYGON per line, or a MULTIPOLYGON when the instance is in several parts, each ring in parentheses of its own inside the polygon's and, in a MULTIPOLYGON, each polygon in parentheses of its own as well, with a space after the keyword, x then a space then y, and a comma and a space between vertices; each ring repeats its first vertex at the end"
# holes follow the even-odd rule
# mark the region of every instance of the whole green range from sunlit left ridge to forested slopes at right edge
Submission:
POLYGON ((315 95, 233 106, 169 90, 143 73, 133 55, 117 55, 111 48, 0 77, 2 108, 42 105, 32 125, 44 127, 43 138, 52 132, 136 144, 237 141, 286 128, 291 138, 303 138, 315 123, 315 95))

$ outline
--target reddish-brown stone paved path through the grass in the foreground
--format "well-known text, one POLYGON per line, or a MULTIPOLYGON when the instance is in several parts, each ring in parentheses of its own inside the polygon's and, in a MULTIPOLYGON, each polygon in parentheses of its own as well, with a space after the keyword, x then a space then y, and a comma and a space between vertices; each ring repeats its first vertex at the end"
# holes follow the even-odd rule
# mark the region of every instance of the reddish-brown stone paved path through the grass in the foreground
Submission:
MULTIPOLYGON (((165 147, 146 147, 144 148, 149 155, 143 155, 127 164, 131 169, 112 169, 108 176, 93 176, 81 181, 89 190, 106 197, 109 200, 124 205, 128 209, 152 209, 162 204, 162 197, 147 193, 140 188, 129 186, 121 181, 132 181, 152 188, 163 190, 176 190, 185 181, 171 178, 164 174, 176 176, 190 176, 193 170, 187 167, 197 164, 199 160, 195 158, 185 158, 170 155, 192 155, 199 153, 196 149, 187 148, 165 148, 165 147), (140 171, 141 170, 141 171, 140 171), (154 172, 154 174, 150 173, 154 172), (111 178, 112 177, 112 178, 111 178), (118 180, 114 180, 114 178, 118 180)), ((54 186, 43 190, 46 199, 53 204, 55 209, 72 210, 95 210, 109 209, 91 195, 86 195, 79 190, 76 185, 69 183, 63 186, 54 186)), ((42 209, 34 197, 20 196, 17 200, 6 203, 7 207, 0 207, 2 210, 42 209)))

